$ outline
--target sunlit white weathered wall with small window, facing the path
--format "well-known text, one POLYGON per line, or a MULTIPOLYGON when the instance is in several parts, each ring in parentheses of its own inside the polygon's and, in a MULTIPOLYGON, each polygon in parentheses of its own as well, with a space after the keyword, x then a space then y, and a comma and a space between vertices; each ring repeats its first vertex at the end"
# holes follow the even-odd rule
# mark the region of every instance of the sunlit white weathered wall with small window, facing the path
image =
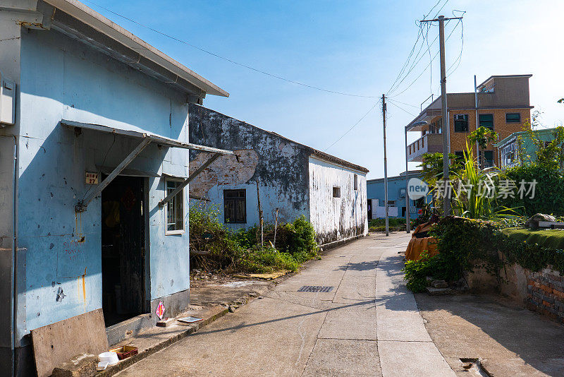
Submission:
POLYGON ((310 156, 309 217, 319 244, 368 234, 366 173, 310 156), (341 198, 333 198, 334 186, 341 198))

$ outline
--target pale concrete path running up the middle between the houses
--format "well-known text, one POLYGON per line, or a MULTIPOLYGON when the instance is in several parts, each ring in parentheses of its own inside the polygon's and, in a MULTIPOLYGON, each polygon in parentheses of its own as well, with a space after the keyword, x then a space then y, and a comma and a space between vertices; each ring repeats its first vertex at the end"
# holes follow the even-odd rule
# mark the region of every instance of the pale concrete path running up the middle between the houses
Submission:
POLYGON ((405 288, 410 235, 371 235, 118 376, 455 376, 405 288), (304 285, 331 292, 297 292, 304 285))

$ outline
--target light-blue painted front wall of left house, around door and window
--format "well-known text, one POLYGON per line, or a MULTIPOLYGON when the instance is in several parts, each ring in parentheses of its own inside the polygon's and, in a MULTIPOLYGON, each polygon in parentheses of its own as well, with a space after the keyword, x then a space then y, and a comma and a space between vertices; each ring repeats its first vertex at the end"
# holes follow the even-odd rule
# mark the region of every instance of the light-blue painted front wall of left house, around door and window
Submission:
MULTIPOLYGON (((83 131, 69 119, 147 130, 188 141, 186 98, 156 80, 56 31, 21 38, 18 336, 102 307, 101 203, 75 214, 85 196, 85 171, 115 167, 139 140, 83 131), (84 239, 82 239, 84 237, 84 239), (82 284, 84 275, 84 285, 82 284), (57 300, 59 287, 64 298, 57 300)), ((149 145, 130 167, 186 176, 188 152, 149 145)), ((150 178, 146 298, 189 287, 185 234, 164 235, 164 181, 150 178)), ((188 208, 188 196, 186 196, 188 208)))

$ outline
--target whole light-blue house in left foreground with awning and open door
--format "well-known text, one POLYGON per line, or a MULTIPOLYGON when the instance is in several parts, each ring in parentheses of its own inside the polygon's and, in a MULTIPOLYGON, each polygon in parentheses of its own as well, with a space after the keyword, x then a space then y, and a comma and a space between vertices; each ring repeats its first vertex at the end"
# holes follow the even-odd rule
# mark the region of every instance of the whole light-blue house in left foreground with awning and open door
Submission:
POLYGON ((0 370, 24 375, 31 330, 188 306, 188 149, 230 153, 188 112, 228 93, 78 1, 0 1, 0 51, 0 370))

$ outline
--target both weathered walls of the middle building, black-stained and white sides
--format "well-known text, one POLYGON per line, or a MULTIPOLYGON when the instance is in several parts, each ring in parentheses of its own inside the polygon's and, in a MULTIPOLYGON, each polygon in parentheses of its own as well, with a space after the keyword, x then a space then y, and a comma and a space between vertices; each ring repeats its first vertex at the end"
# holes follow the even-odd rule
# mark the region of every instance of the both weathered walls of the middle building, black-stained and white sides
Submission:
MULTIPOLYGON (((266 222, 274 222, 279 208, 281 222, 305 215, 314 225, 321 244, 367 234, 365 172, 312 157, 314 150, 306 145, 198 105, 190 105, 190 141, 237 151, 238 159, 221 157, 190 184, 192 196, 218 205, 222 221, 223 191, 245 189, 247 223, 229 227, 259 223, 255 186, 258 181, 266 222), (356 191, 354 174, 358 177, 356 191), (338 200, 332 198, 333 186, 341 186, 342 196, 338 200)), ((191 153, 190 171, 207 158, 202 153, 191 153)), ((192 201, 192 205, 195 203, 192 201)))

